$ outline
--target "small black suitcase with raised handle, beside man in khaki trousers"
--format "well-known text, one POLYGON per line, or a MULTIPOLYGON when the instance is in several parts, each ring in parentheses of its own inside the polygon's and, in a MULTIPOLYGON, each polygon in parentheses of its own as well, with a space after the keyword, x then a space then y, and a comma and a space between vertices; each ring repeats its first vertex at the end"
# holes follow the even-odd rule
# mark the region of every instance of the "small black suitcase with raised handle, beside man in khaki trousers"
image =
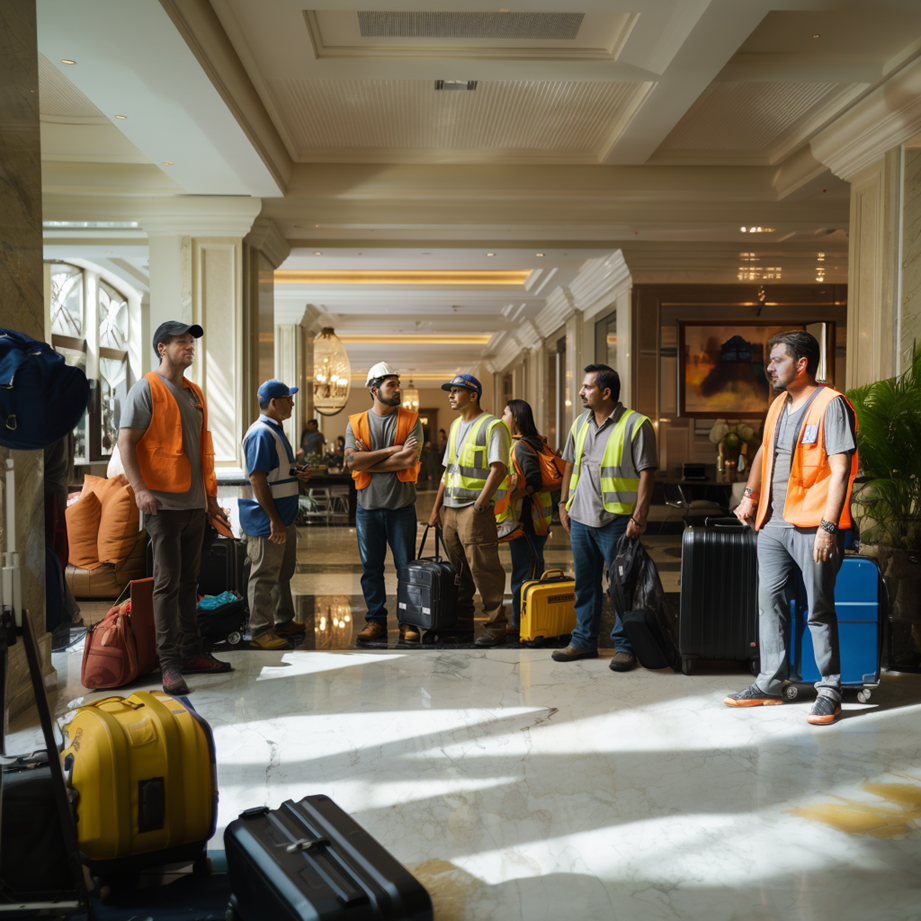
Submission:
POLYGON ((418 627, 423 643, 434 642, 436 633, 457 623, 457 573, 439 553, 437 528, 435 556, 422 556, 428 533, 426 527, 419 544, 419 558, 400 567, 397 574, 397 620, 418 627))

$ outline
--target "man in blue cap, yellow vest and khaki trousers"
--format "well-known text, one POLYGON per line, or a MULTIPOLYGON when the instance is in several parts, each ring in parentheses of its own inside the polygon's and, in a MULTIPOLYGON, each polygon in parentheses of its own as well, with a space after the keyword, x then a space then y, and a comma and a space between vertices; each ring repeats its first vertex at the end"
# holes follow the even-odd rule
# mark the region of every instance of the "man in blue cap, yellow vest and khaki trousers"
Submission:
POLYGON ((499 562, 497 521, 508 515, 508 426, 480 408, 483 388, 471 374, 457 374, 446 384, 451 409, 459 413, 448 434, 442 463, 445 474, 429 518, 442 527, 448 558, 457 572, 457 625, 442 643, 473 641, 473 595, 479 590, 486 633, 477 646, 505 642, 505 570, 499 562), (493 504, 495 503, 495 505, 493 504))

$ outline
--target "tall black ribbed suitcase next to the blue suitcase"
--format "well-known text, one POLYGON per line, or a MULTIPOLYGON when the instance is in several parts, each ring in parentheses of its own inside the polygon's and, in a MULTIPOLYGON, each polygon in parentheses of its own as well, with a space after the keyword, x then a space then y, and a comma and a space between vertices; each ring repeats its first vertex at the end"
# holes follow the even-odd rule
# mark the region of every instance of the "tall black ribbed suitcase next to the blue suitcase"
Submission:
POLYGON ((758 535, 737 518, 707 518, 681 542, 681 670, 695 659, 748 662, 758 673, 758 535))

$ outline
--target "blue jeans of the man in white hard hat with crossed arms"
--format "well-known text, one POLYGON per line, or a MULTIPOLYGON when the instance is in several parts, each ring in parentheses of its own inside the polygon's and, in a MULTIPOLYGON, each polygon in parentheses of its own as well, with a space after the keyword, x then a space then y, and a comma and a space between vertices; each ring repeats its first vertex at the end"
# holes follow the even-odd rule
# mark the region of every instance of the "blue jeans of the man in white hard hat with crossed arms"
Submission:
MULTIPOLYGON (((387 626, 387 592, 384 588, 384 560, 387 546, 393 553, 393 565, 401 566, 416 558, 416 507, 355 509, 355 530, 361 554, 361 591, 368 613, 365 620, 387 626)), ((397 621, 399 621, 397 615, 397 621)))

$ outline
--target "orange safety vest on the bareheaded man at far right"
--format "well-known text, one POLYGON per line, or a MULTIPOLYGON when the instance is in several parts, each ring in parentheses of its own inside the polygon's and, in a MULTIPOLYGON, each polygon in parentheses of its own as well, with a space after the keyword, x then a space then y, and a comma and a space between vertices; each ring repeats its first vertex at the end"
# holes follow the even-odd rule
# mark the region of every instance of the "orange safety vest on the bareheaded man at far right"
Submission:
MULTIPOLYGON (((806 409, 796 445, 793 448, 793 457, 790 462, 790 480, 787 484, 787 498, 784 502, 784 521, 799 528, 817 528, 825 514, 828 502, 828 484, 831 481, 831 467, 828 464, 828 455, 825 453, 825 410, 832 400, 843 397, 844 394, 833 390, 831 387, 820 386, 812 402, 806 409), (807 426, 813 426, 809 432, 809 442, 804 443, 807 426)), ((847 397, 844 397, 847 400, 847 397)), ((764 442, 761 455, 761 492, 764 497, 771 488, 771 477, 774 473, 774 433, 780 414, 785 411, 787 394, 782 393, 771 404, 767 419, 764 423, 764 442)), ((851 406, 850 402, 847 404, 851 406)), ((854 407, 851 406, 853 411, 854 407)), ((857 413, 854 413, 854 431, 857 430, 857 413)), ((854 477, 857 476, 857 450, 851 456, 851 470, 847 480, 847 495, 844 498, 844 507, 841 517, 835 522, 840 528, 851 526, 851 489, 854 486, 854 477)), ((762 501, 758 508, 758 517, 755 528, 760 529, 767 517, 770 503, 762 501)))

